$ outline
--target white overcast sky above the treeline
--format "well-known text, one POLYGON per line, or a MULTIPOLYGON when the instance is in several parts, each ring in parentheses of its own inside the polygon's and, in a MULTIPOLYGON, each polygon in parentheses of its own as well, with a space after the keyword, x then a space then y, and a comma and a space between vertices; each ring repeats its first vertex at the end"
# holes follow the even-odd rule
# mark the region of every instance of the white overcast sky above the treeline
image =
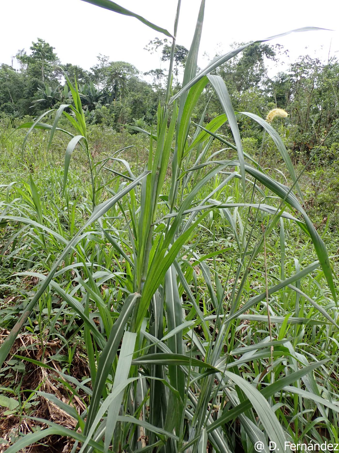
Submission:
MULTIPOLYGON (((117 0, 151 22, 173 30, 176 0, 117 0)), ((101 53, 110 60, 134 64, 140 71, 160 67, 159 55, 143 50, 161 34, 137 19, 125 17, 81 0, 0 1, 0 63, 11 64, 18 49, 28 53, 38 37, 53 47, 61 63, 89 69, 101 53)), ((200 0, 182 0, 177 43, 189 48, 200 0)), ((293 33, 272 43, 283 44, 293 61, 309 53, 322 60, 339 51, 339 1, 325 0, 206 0, 198 65, 206 66, 229 44, 265 38, 287 30, 316 26, 334 31, 293 33), (307 49, 306 49, 307 47, 307 49)), ((286 69, 282 67, 281 69, 286 69)))

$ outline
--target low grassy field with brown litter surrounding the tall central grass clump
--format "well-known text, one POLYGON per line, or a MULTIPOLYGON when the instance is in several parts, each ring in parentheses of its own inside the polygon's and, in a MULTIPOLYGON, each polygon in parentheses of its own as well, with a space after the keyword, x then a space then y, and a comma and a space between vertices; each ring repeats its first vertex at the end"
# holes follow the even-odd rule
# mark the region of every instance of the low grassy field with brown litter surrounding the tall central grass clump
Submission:
MULTIPOLYGON (((66 191, 62 193, 68 140, 60 133, 55 137, 55 145, 47 150, 47 133, 38 130, 30 135, 22 154, 25 133, 17 130, 9 135, 11 132, 13 130, 3 125, 0 136, 2 212, 14 216, 14 220, 1 224, 2 336, 10 331, 18 315, 29 304, 36 293, 36 284, 46 277, 64 244, 71 240, 92 212, 89 165, 82 149, 75 149, 72 155, 66 191)), ((89 128, 88 137, 94 163, 105 162, 98 177, 96 204, 99 204, 113 193, 118 193, 121 184, 129 181, 127 178, 130 178, 130 173, 137 175, 142 172, 148 158, 149 141, 143 134, 117 134, 95 126, 89 128), (117 153, 119 149, 131 145, 117 153), (113 155, 122 160, 104 160, 113 155), (130 164, 129 169, 126 169, 124 160, 130 164)), ((213 142, 206 159, 217 149, 217 144, 213 142)), ((225 150, 219 159, 229 158, 231 151, 225 150)), ((283 168, 283 162, 277 164, 283 168)), ((202 171, 197 179, 207 174, 206 169, 202 171)), ((267 172, 272 173, 269 169, 267 172)), ((170 173, 169 170, 165 176, 161 191, 164 194, 170 190, 170 173)), ((220 188, 227 176, 224 172, 215 174, 196 193, 193 205, 204 200, 215 189, 215 203, 241 205, 243 196, 239 179, 220 188)), ((282 177, 281 182, 284 182, 282 177)), ((307 176, 301 180, 303 189, 307 189, 307 182, 307 176)), ((192 186, 189 184, 184 194, 192 189, 193 183, 192 186)), ((264 186, 258 184, 258 188, 264 190, 265 197, 272 196, 264 186)), ((252 186, 247 190, 251 196, 252 186)), ((84 316, 88 310, 89 318, 101 337, 105 335, 101 310, 108 309, 114 322, 122 310, 126 293, 132 293, 133 251, 128 244, 126 229, 126 219, 131 219, 129 205, 132 199, 125 195, 119 206, 106 212, 101 224, 94 222, 85 228, 73 253, 65 256, 49 290, 34 306, 15 341, 1 375, 1 437, 5 439, 4 444, 13 443, 23 434, 34 432, 37 427, 47 427, 42 420, 29 417, 46 419, 67 429, 74 430, 76 426, 81 426, 81 417, 79 420, 74 418, 73 411, 75 409, 77 414, 81 414, 88 407, 92 389, 90 382, 95 373, 95 357, 98 357, 95 342, 89 353, 88 341, 92 340, 84 316), (101 227, 109 236, 104 236, 101 227)), ((261 191, 254 194, 253 202, 258 203, 260 200, 267 202, 261 191)), ((271 206, 278 206, 274 198, 269 201, 271 206)), ((158 219, 166 213, 161 203, 164 202, 160 201, 158 219)), ((290 209, 285 212, 295 214, 290 209)), ((255 406, 254 409, 249 406, 246 412, 238 414, 240 425, 231 407, 245 404, 246 396, 249 396, 246 386, 249 384, 264 391, 282 378, 288 380, 286 385, 279 389, 274 398, 273 395, 267 397, 267 401, 287 439, 295 443, 306 439, 317 442, 331 439, 335 443, 338 436, 336 404, 339 338, 337 326, 334 325, 335 320, 338 322, 338 310, 319 265, 313 264, 317 256, 310 238, 296 222, 280 217, 245 279, 244 270, 239 266, 244 242, 246 244, 249 241, 250 251, 253 247, 251 244, 260 239, 263 226, 267 228, 269 220, 268 213, 254 208, 250 211, 248 207, 241 206, 211 210, 207 217, 198 222, 194 234, 177 257, 179 270, 183 270, 177 286, 177 302, 180 306, 177 309, 182 312, 183 323, 179 337, 182 340, 182 353, 186 354, 188 360, 206 357, 208 342, 218 338, 217 333, 221 328, 221 323, 215 321, 216 314, 222 316, 223 313, 231 313, 232 303, 238 299, 237 309, 233 309, 236 316, 226 325, 219 357, 214 363, 225 373, 229 370, 243 377, 245 387, 235 390, 230 382, 226 383, 225 376, 225 381, 214 384, 212 381, 209 397, 205 397, 205 406, 200 409, 203 417, 208 416, 203 422, 205 431, 213 423, 221 426, 232 450, 241 444, 241 448, 246 451, 248 446, 244 444, 244 439, 248 439, 249 434, 247 431, 242 432, 241 423, 249 424, 258 436, 261 424, 256 419, 255 414, 259 412, 255 406), (298 273, 300 277, 294 277, 298 273), (290 287, 284 285, 281 289, 269 292, 267 302, 265 280, 270 291, 279 281, 290 277, 290 287), (274 345, 272 352, 271 344, 274 345), (273 366, 270 366, 272 358, 273 366), (315 366, 310 367, 314 363, 315 366), (309 370, 307 374, 298 376, 300 366, 302 370, 305 369, 305 373, 309 370), (291 380, 289 376, 293 376, 293 373, 297 375, 291 380), (229 417, 226 421, 222 417, 219 423, 221 414, 228 411, 229 417)), ((320 219, 316 220, 320 222, 320 219)), ((335 255, 339 245, 335 230, 323 223, 318 231, 329 254, 335 255)), ((337 258, 332 260, 332 264, 337 269, 337 258)), ((169 294, 166 292, 162 297, 167 306, 169 294)), ((153 316, 151 312, 143 321, 145 334, 139 339, 138 347, 141 354, 155 349, 155 346, 151 347, 154 342, 154 337, 151 337, 152 332, 154 335, 151 327, 153 316), (146 329, 150 332, 147 335, 146 329)), ((168 316, 164 311, 159 321, 161 333, 158 332, 157 337, 159 340, 163 338, 163 346, 159 347, 161 352, 168 351, 170 346, 170 338, 166 339, 171 330, 168 316)), ((116 360, 113 361, 115 370, 120 363, 116 360)), ((140 362, 140 372, 141 369, 144 371, 138 374, 140 377, 144 376, 147 365, 140 362)), ((194 366, 192 375, 186 376, 186 379, 194 381, 198 369, 194 366)), ((110 382, 108 376, 108 392, 112 390, 110 382)), ((132 415, 135 419, 150 421, 152 395, 147 379, 140 379, 136 387, 139 396, 132 415)), ((190 417, 190 414, 198 414, 195 411, 202 402, 199 403, 196 395, 204 389, 197 380, 187 391, 184 401, 187 416, 190 417)), ((131 414, 128 406, 127 398, 122 414, 131 414)), ((135 431, 132 430, 129 438, 126 437, 130 423, 129 420, 118 421, 120 446, 118 449, 113 447, 113 451, 120 451, 119 448, 134 451, 145 448, 149 443, 161 444, 159 437, 156 441, 156 432, 152 438, 148 425, 144 425, 144 428, 140 425, 135 431), (127 444, 130 449, 127 449, 127 444)), ((185 423, 182 432, 185 433, 185 423)), ((65 434, 50 434, 45 439, 45 449, 40 446, 36 451, 71 451, 73 441, 63 437, 65 434)), ((225 446, 225 450, 222 449, 222 444, 218 446, 217 442, 225 442, 222 438, 215 439, 215 442, 216 451, 227 451, 225 446)), ((208 442, 208 445, 212 448, 212 443, 208 442)))

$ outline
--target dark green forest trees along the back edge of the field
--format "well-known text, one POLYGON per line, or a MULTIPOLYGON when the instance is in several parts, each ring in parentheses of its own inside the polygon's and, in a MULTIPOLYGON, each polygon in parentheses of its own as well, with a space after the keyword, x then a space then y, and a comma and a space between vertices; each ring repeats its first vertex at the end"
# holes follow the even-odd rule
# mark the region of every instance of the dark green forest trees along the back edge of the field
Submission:
MULTIPOLYGON (((237 44, 234 43, 234 47, 237 44)), ((162 68, 140 72, 131 63, 109 61, 99 54, 89 70, 72 63, 64 64, 55 48, 38 38, 29 48, 16 54, 16 63, 0 67, 0 114, 12 118, 37 116, 63 103, 71 103, 71 92, 62 69, 79 84, 86 120, 120 130, 122 125, 151 125, 159 101, 165 96, 166 63, 170 59, 167 39, 155 38, 145 51, 160 50, 162 68), (18 67, 17 69, 15 67, 18 67)), ((188 50, 176 45, 174 53, 173 91, 181 88, 188 50)), ((226 82, 235 111, 249 111, 265 117, 278 107, 289 113, 290 148, 309 153, 338 119, 339 62, 336 57, 323 63, 304 55, 279 71, 288 51, 282 45, 255 44, 218 67, 214 72, 226 82), (272 70, 274 68, 274 70, 272 70), (269 72, 275 72, 269 77, 269 72)), ((212 87, 204 90, 194 111, 200 118, 208 102, 205 120, 219 110, 212 87)), ((240 119, 245 136, 258 138, 248 118, 240 119)), ((332 136, 331 143, 339 141, 332 136)))

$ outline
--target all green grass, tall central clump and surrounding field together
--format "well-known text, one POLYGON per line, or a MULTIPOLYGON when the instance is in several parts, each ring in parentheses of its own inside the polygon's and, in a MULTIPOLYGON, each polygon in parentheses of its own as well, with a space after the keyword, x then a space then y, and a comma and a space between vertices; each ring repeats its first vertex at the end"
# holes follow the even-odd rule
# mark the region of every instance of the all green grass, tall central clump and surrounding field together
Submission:
POLYGON ((90 3, 172 39, 165 102, 150 128, 132 126, 140 134, 98 155, 65 73, 71 104, 2 132, 17 164, 4 161, 1 176, 0 405, 3 426, 16 426, 6 451, 43 451, 43 439, 72 452, 338 443, 335 261, 300 184, 318 148, 296 173, 270 122, 234 111, 210 72, 250 44, 197 75, 204 0, 175 94, 180 1, 173 36, 90 3), (193 122, 207 84, 220 113, 193 122), (265 131, 253 155, 242 117, 265 131), (225 124, 230 138, 218 134, 225 124), (263 168, 266 140, 283 172, 263 168))

